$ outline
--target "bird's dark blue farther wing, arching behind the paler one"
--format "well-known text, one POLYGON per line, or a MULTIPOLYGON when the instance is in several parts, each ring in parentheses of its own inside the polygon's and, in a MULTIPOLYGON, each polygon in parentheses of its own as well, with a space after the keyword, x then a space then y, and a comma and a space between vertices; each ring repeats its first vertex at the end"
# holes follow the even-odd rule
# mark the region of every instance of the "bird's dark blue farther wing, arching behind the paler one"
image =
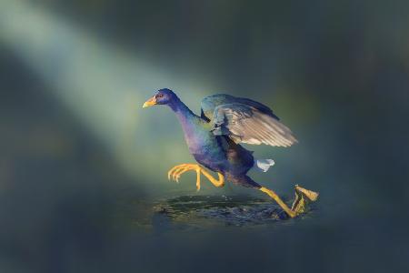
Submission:
POLYGON ((273 116, 277 120, 280 119, 278 118, 278 116, 274 115, 273 110, 270 109, 268 106, 264 106, 263 104, 248 98, 236 97, 226 94, 206 96, 201 102, 202 106, 201 116, 202 118, 205 118, 210 121, 213 119, 215 107, 235 103, 244 104, 245 106, 253 106, 255 109, 266 115, 273 116))

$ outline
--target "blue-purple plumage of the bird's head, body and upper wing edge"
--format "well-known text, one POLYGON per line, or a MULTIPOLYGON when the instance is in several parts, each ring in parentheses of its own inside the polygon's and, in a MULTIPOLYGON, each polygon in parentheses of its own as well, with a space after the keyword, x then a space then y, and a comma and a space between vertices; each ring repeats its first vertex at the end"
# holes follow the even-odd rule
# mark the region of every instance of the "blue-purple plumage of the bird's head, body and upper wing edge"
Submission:
POLYGON ((169 89, 158 91, 155 104, 170 106, 175 112, 184 130, 189 151, 200 165, 222 173, 227 180, 244 187, 260 187, 246 176, 254 167, 253 152, 238 144, 240 136, 229 129, 229 124, 224 124, 225 120, 234 123, 234 118, 223 112, 223 106, 233 108, 242 117, 254 116, 255 110, 278 120, 270 108, 250 99, 221 94, 205 97, 202 101, 202 116, 196 116, 169 89), (222 128, 224 131, 221 131, 222 128))

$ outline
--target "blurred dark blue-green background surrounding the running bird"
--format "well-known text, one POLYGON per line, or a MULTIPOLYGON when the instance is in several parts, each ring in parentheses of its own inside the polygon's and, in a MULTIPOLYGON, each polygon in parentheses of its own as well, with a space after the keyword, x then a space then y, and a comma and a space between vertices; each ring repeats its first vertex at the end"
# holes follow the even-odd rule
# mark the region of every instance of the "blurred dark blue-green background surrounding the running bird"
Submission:
POLYGON ((0 272, 403 272, 409 256, 407 1, 0 1, 0 272), (157 200, 195 192, 168 87, 271 106, 299 139, 249 147, 254 179, 312 217, 174 227, 157 200))

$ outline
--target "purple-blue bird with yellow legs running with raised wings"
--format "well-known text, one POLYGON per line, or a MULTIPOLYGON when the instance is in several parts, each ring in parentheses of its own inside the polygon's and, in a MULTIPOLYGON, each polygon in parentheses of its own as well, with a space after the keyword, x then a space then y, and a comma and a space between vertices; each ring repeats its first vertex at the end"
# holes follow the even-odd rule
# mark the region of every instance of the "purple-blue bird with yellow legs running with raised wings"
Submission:
POLYGON ((249 145, 291 147, 298 141, 293 132, 276 116, 273 110, 252 99, 216 94, 206 96, 201 102, 201 115, 197 116, 175 92, 163 88, 145 101, 148 106, 169 106, 184 131, 190 154, 198 164, 187 163, 172 167, 168 179, 176 182, 187 171, 196 172, 196 187, 200 190, 201 175, 214 187, 224 187, 225 181, 260 190, 272 197, 289 217, 304 212, 304 201, 315 201, 318 193, 295 185, 295 200, 288 207, 272 190, 256 183, 247 172, 252 168, 267 171, 274 165, 272 159, 257 160, 254 152, 244 148, 249 145), (208 171, 217 174, 217 178, 208 171))

